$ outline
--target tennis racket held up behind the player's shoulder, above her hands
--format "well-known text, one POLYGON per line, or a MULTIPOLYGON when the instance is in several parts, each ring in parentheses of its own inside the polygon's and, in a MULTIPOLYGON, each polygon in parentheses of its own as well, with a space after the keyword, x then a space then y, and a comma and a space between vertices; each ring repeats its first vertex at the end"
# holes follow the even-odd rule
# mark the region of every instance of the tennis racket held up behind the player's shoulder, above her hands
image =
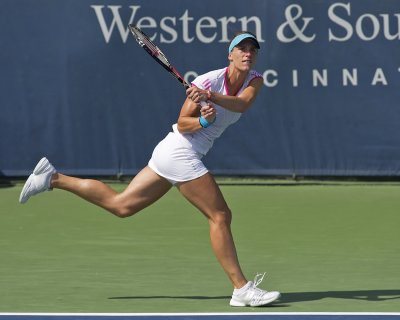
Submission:
POLYGON ((132 32, 137 43, 146 52, 156 60, 165 70, 172 74, 184 87, 185 89, 190 88, 190 84, 183 79, 179 72, 171 65, 165 54, 149 39, 149 37, 140 30, 137 26, 130 24, 129 30, 132 32))

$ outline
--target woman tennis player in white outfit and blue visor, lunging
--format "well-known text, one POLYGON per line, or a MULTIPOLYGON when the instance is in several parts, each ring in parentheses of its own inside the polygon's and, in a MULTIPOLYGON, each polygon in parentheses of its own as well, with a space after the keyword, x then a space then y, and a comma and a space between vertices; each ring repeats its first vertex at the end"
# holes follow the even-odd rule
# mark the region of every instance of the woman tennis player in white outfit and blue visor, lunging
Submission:
POLYGON ((263 275, 247 281, 231 233, 231 211, 213 176, 202 162, 213 142, 239 120, 263 85, 252 68, 260 45, 254 34, 240 32, 228 49, 229 65, 200 75, 186 91, 176 124, 128 187, 118 193, 101 181, 58 173, 43 158, 25 183, 20 202, 52 188, 70 191, 118 217, 129 217, 162 197, 172 186, 208 219, 214 253, 233 284, 231 306, 262 306, 280 297, 257 286, 263 275), (206 105, 202 101, 206 102, 206 105), (200 106, 200 103, 203 106, 200 106))

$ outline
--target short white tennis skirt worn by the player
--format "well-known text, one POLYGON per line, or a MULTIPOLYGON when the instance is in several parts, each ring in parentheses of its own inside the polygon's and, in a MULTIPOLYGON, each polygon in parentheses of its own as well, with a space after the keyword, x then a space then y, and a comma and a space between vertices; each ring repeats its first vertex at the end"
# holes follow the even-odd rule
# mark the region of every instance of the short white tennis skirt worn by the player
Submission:
POLYGON ((190 181, 208 172, 189 141, 170 132, 154 149, 149 167, 172 184, 190 181))

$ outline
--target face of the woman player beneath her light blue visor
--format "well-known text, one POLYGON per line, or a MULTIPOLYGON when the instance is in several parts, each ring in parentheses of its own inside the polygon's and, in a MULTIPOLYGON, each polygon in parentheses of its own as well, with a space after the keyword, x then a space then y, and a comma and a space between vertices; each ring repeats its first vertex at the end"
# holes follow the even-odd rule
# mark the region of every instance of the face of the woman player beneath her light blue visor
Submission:
POLYGON ((249 71, 257 60, 258 49, 252 40, 243 40, 233 48, 228 56, 229 61, 242 71, 249 71))

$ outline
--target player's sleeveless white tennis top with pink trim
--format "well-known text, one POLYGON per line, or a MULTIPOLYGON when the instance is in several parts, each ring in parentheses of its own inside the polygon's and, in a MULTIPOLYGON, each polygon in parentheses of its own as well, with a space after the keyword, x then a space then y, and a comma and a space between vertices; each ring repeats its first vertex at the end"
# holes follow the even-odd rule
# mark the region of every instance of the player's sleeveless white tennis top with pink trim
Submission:
MULTIPOLYGON (((192 84, 204 90, 210 90, 212 92, 229 95, 225 81, 227 72, 227 67, 219 70, 210 71, 208 73, 198 76, 196 79, 193 80, 192 84)), ((246 80, 244 81, 243 86, 236 93, 236 96, 240 95, 240 93, 249 85, 250 81, 260 77, 262 77, 261 74, 259 74, 255 70, 251 70, 246 80)), ((177 124, 174 124, 172 126, 175 134, 181 136, 184 142, 189 142, 189 146, 202 155, 207 154, 207 152, 214 144, 214 140, 220 137, 227 127, 238 121, 240 116, 242 115, 241 113, 224 109, 217 104, 213 105, 217 111, 217 117, 215 122, 208 128, 202 128, 192 133, 180 133, 178 131, 177 124)))

